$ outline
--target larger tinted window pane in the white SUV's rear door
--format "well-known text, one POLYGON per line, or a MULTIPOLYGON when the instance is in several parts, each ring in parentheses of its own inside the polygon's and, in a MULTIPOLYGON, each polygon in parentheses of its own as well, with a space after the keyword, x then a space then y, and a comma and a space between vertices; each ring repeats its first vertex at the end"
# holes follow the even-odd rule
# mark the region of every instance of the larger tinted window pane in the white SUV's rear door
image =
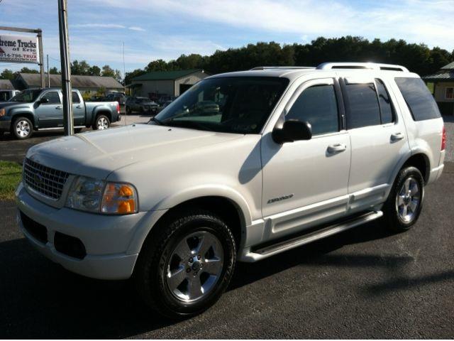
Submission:
POLYGON ((381 123, 377 92, 373 83, 345 85, 348 99, 347 129, 381 123))

